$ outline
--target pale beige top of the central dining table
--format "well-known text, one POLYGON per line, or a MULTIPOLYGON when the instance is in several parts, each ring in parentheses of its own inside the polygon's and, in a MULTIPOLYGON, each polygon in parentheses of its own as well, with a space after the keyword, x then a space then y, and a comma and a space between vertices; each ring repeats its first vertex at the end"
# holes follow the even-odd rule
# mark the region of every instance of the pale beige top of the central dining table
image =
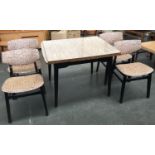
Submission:
POLYGON ((43 57, 49 64, 91 60, 120 54, 115 47, 97 36, 43 41, 41 48, 43 57))

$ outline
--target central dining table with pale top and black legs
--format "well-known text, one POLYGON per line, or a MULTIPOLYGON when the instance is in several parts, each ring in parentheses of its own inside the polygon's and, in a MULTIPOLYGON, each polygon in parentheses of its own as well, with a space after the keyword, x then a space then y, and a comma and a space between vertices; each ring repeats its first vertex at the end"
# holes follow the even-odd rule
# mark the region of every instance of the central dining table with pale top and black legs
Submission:
MULTIPOLYGON (((59 69, 71 65, 107 62, 107 95, 111 94, 113 57, 120 54, 114 46, 98 36, 59 40, 45 40, 41 43, 42 55, 49 68, 54 66, 54 105, 58 106, 59 69)), ((49 74, 50 70, 49 70, 49 74)))

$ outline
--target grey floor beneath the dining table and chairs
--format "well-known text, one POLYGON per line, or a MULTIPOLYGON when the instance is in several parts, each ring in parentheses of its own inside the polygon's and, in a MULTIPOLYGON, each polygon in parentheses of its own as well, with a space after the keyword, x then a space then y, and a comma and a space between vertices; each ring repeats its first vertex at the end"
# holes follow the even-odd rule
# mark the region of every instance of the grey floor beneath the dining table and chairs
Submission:
MULTIPOLYGON (((150 66, 152 61, 143 53, 139 61, 150 66)), ((7 66, 0 64, 0 85, 9 76, 7 66)), ((96 63, 95 63, 96 69, 96 63)), ((54 108, 54 87, 48 80, 47 65, 42 59, 49 116, 44 116, 40 95, 11 100, 13 123, 20 124, 155 124, 155 73, 152 77, 151 97, 146 98, 146 80, 127 84, 124 103, 119 104, 121 83, 112 81, 111 97, 104 86, 104 67, 90 74, 90 64, 70 66, 60 70, 59 107, 54 108)), ((0 93, 0 124, 7 123, 4 95, 0 93)))

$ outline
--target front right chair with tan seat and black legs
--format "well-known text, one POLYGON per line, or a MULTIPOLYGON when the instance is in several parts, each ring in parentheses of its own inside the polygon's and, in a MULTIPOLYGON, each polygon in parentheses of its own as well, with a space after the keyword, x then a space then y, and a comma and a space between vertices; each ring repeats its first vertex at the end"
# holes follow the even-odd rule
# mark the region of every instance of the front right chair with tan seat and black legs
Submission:
MULTIPOLYGON (((131 54, 141 49, 141 40, 118 41, 114 43, 114 46, 120 50, 122 54, 131 54)), ((115 64, 116 57, 114 58, 114 65, 115 64)), ((118 72, 116 73, 114 71, 113 73, 122 82, 120 103, 123 102, 126 82, 135 80, 147 79, 147 98, 150 97, 151 77, 153 73, 153 69, 151 67, 140 62, 134 62, 128 64, 118 64, 116 65, 116 71, 118 72)))

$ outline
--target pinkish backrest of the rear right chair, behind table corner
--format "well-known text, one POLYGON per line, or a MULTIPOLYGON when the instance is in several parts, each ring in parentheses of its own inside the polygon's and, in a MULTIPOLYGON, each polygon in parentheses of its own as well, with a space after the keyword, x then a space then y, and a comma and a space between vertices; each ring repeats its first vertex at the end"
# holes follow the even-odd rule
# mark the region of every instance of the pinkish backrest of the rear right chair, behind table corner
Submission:
POLYGON ((104 32, 99 36, 111 45, 113 45, 116 41, 123 40, 123 32, 104 32))

